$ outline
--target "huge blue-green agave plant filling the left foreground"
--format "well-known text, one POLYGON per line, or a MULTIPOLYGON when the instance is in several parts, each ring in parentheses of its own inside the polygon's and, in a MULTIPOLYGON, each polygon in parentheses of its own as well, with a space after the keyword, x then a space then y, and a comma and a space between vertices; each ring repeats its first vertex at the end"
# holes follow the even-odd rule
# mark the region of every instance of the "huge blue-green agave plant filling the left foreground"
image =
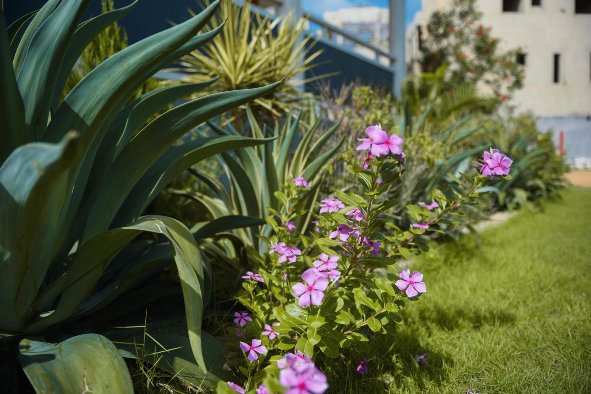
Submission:
MULTIPOLYGON (((39 393, 132 392, 121 353, 97 330, 170 294, 158 284, 144 288, 142 280, 174 261, 185 314, 184 334, 174 331, 184 342, 176 346, 189 349, 184 363, 200 371, 198 381, 215 380, 223 373, 222 352, 201 330, 208 267, 184 225, 140 215, 174 176, 204 157, 268 142, 225 135, 174 145, 200 123, 277 84, 204 96, 144 127, 155 111, 212 81, 160 88, 125 104, 151 75, 220 32, 223 25, 197 35, 216 1, 109 57, 60 103, 86 45, 137 4, 81 22, 89 2, 49 0, 8 28, 0 15, 0 347, 3 356, 15 354, 2 365, 18 356, 39 393), (142 232, 155 241, 138 239, 142 232)), ((180 365, 171 357, 170 366, 180 365)), ((2 386, 14 387, 15 380, 2 386)))

